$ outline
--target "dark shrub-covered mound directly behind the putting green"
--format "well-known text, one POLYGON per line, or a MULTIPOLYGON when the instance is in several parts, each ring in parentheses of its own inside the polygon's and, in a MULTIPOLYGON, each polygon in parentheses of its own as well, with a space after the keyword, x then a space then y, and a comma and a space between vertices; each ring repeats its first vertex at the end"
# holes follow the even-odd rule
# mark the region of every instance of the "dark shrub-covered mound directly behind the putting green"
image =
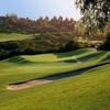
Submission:
POLYGON ((79 47, 70 34, 44 33, 22 41, 0 42, 0 59, 15 55, 68 52, 79 47))

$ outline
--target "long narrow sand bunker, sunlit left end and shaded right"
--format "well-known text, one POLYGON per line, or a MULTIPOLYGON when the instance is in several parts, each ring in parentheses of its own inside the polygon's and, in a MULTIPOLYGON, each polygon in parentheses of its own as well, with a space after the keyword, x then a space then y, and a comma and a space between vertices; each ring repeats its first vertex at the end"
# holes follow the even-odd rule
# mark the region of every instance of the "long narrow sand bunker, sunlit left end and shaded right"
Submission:
POLYGON ((24 82, 18 82, 18 84, 10 84, 10 85, 7 86, 7 89, 9 89, 9 90, 20 90, 20 89, 24 89, 24 88, 29 88, 29 87, 33 87, 33 86, 37 86, 37 85, 53 82, 54 80, 58 80, 58 79, 62 79, 62 78, 67 78, 67 77, 80 75, 80 74, 82 74, 87 70, 90 70, 90 69, 94 69, 96 67, 107 65, 107 64, 110 64, 110 62, 97 64, 97 65, 94 65, 94 66, 90 66, 90 67, 74 70, 74 72, 47 76, 47 77, 40 78, 40 79, 33 79, 33 80, 29 80, 29 81, 24 81, 24 82))

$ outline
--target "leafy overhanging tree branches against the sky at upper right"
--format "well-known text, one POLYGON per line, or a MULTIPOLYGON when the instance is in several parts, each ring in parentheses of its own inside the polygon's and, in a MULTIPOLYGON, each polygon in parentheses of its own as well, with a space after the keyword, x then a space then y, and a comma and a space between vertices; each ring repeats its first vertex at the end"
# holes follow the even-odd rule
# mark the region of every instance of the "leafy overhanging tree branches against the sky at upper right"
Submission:
POLYGON ((110 0, 76 0, 77 8, 82 14, 86 32, 105 29, 110 21, 110 0))

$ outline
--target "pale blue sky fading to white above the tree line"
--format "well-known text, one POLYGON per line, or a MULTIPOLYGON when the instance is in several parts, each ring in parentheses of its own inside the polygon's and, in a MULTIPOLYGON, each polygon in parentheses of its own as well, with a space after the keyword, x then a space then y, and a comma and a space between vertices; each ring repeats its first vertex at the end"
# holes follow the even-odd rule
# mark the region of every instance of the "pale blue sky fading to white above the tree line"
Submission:
POLYGON ((54 15, 80 19, 75 0, 0 0, 0 15, 15 13, 18 16, 37 19, 54 15))

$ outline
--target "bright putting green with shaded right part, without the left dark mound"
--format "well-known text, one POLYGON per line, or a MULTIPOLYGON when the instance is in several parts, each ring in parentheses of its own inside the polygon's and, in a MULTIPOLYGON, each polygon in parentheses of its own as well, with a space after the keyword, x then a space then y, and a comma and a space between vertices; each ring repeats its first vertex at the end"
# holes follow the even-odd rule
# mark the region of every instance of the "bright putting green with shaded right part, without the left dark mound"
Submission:
POLYGON ((30 62, 63 62, 68 59, 77 59, 79 57, 82 57, 85 55, 96 53, 95 51, 89 50, 78 50, 74 52, 67 52, 67 53, 59 53, 59 54, 43 54, 43 55, 25 55, 21 56, 30 62))

